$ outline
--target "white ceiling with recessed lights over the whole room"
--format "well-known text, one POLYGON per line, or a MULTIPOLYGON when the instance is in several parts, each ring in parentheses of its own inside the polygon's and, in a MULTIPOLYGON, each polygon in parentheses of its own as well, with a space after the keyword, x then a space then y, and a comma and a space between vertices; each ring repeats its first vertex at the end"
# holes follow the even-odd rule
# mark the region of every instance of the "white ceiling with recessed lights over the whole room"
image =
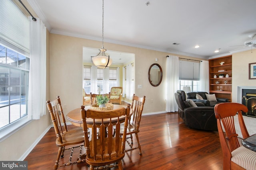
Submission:
MULTIPOLYGON (((28 2, 51 33, 102 41, 102 0, 28 2)), ((250 49, 255 11, 256 0, 105 0, 104 42, 208 59, 250 49)))

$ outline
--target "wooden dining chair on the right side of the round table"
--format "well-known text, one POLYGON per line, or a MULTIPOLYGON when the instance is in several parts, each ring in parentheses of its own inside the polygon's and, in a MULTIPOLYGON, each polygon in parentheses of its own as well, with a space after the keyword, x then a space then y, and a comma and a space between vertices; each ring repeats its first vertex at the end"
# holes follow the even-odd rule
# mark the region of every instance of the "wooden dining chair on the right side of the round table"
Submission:
MULTIPOLYGON (((142 98, 135 96, 135 94, 133 94, 133 96, 132 96, 131 109, 133 109, 133 115, 129 119, 128 128, 127 128, 127 132, 126 132, 126 135, 127 136, 129 135, 128 137, 126 137, 126 142, 130 146, 130 149, 125 149, 125 152, 131 151, 134 149, 139 149, 140 150, 139 154, 142 155, 142 150, 141 150, 141 146, 140 146, 138 133, 140 132, 140 129, 139 129, 140 128, 140 120, 141 120, 141 115, 142 115, 145 99, 146 99, 145 96, 143 96, 142 98), (138 143, 137 147, 133 147, 132 134, 135 134, 135 136, 136 136, 137 143, 138 143), (128 139, 130 139, 131 142, 128 139)), ((124 125, 121 124, 120 128, 121 128, 120 135, 124 135, 124 133, 123 133, 124 125)), ((114 131, 114 135, 116 135, 115 131, 114 131)))

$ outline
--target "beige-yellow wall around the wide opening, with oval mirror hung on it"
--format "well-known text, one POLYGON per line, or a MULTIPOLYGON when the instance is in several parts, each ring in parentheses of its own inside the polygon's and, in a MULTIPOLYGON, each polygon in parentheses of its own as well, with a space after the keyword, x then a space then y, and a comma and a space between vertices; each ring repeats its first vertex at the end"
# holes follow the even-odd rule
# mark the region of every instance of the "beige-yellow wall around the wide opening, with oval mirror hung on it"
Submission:
MULTIPOLYGON (((60 96, 63 105, 66 105, 65 113, 82 105, 83 47, 99 48, 101 42, 50 34, 50 98, 60 96)), ((165 111, 166 55, 170 53, 112 43, 104 43, 104 47, 112 51, 135 54, 135 94, 146 96, 143 113, 165 111), (158 58, 157 62, 155 58, 158 58), (148 81, 148 69, 153 63, 160 64, 163 70, 163 81, 157 87, 151 86, 148 81), (138 84, 142 88, 138 88, 138 84)))

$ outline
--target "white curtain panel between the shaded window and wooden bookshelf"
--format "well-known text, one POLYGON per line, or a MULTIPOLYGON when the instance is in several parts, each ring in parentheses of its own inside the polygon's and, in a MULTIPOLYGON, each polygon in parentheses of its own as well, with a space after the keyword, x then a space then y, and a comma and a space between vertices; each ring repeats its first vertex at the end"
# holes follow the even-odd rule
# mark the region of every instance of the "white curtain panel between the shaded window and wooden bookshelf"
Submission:
POLYGON ((199 89, 201 92, 209 93, 209 61, 203 60, 200 63, 199 89))

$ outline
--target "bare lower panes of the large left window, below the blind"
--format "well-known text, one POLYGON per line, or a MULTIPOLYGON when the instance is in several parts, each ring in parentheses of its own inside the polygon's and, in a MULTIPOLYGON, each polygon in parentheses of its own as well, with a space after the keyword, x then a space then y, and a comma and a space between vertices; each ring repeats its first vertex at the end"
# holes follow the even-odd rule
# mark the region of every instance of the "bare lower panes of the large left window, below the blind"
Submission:
POLYGON ((0 129, 28 114, 29 61, 0 45, 0 129))

